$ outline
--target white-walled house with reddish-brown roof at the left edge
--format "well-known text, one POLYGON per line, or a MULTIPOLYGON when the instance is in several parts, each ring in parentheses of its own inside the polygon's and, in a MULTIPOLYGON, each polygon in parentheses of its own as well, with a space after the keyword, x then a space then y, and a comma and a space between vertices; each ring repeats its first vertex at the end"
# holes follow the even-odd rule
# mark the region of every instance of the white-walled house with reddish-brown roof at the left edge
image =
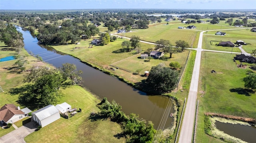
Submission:
POLYGON ((14 123, 32 112, 28 108, 20 110, 20 107, 16 107, 14 104, 5 104, 0 109, 0 121, 2 124, 14 123))

